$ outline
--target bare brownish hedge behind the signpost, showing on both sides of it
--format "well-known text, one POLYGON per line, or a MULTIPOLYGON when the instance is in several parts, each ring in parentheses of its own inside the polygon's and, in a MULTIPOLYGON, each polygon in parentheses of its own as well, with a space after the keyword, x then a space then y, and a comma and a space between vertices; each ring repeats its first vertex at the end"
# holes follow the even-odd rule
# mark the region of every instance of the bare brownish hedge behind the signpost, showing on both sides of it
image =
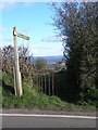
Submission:
MULTIPOLYGON (((29 54, 29 49, 26 47, 19 47, 19 60, 20 60, 20 70, 22 74, 22 79, 27 78, 32 83, 34 80, 34 66, 30 64, 32 54, 29 54)), ((12 74, 14 70, 14 48, 12 46, 7 46, 2 48, 2 72, 5 74, 12 74)))

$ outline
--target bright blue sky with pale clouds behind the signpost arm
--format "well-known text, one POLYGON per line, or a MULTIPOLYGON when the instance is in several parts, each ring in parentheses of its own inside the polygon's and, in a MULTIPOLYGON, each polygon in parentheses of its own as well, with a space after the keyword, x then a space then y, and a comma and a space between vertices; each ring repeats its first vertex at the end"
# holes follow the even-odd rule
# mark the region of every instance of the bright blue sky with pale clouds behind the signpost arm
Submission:
POLYGON ((28 47, 34 56, 62 55, 63 46, 54 30, 54 12, 47 2, 2 2, 0 5, 0 46, 14 46, 13 27, 29 40, 17 38, 17 46, 28 47))

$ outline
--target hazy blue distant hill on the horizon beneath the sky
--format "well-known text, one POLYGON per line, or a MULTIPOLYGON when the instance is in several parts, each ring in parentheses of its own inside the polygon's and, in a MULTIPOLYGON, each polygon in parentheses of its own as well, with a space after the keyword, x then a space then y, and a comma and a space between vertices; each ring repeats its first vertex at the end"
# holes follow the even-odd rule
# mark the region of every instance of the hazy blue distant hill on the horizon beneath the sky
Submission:
POLYGON ((56 55, 56 56, 34 56, 32 57, 30 62, 35 63, 38 57, 42 57, 47 60, 48 64, 61 62, 63 60, 63 55, 56 55))

